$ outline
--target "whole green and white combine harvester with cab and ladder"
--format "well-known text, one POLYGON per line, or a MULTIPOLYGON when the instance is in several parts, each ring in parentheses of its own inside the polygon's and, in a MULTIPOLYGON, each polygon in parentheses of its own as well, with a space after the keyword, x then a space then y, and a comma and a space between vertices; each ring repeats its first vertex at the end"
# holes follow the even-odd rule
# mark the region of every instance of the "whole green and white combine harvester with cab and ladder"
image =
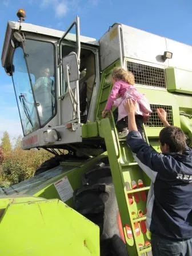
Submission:
POLYGON ((192 47, 120 23, 98 41, 9 21, 2 66, 13 80, 23 149, 53 158, 34 177, 0 190, 2 256, 151 256, 146 229, 150 179, 118 139, 113 114, 102 118, 115 66, 133 72, 153 113, 146 141, 159 150, 156 109, 192 144, 192 47))

